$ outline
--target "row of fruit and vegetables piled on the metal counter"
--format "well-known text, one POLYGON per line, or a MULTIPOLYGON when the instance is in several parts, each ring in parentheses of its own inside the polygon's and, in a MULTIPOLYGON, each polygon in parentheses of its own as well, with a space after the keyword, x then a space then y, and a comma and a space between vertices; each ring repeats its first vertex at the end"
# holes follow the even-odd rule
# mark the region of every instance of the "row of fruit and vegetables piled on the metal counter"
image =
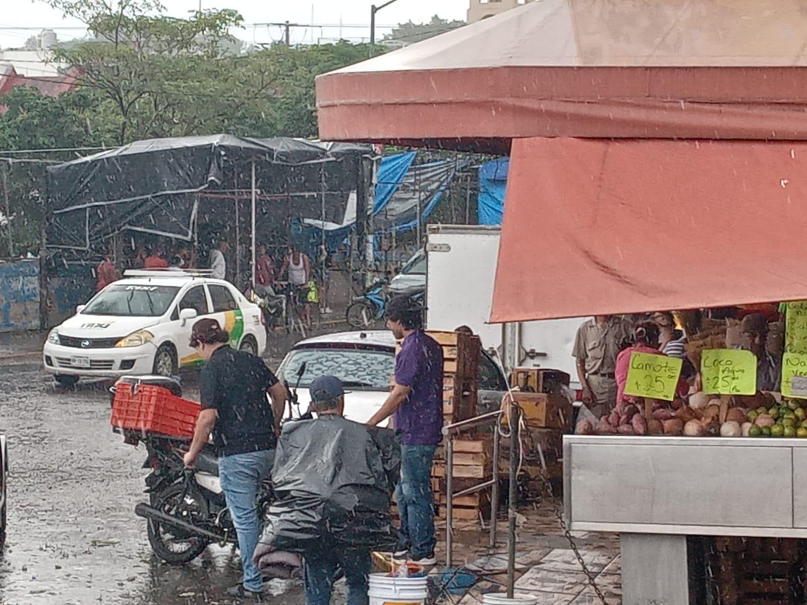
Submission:
POLYGON ((807 438, 807 400, 784 398, 777 403, 771 394, 724 397, 693 394, 690 403, 654 401, 652 409, 640 411, 641 403, 622 403, 593 425, 578 426, 579 435, 667 435, 721 437, 807 438), (646 417, 646 414, 649 414, 646 417))

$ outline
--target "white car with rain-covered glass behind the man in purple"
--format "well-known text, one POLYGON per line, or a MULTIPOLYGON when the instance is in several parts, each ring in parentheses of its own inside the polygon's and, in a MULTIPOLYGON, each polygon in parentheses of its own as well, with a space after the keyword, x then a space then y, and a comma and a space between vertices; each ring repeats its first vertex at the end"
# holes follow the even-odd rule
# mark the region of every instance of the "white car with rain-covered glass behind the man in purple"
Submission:
MULTIPOLYGON (((278 368, 278 378, 293 389, 298 372, 305 363, 299 381, 299 413, 311 403, 308 386, 318 376, 336 376, 345 390, 345 418, 366 422, 383 406, 390 394, 390 378, 395 373, 395 338, 388 330, 339 332, 316 336, 295 344, 278 368)), ((479 357, 479 413, 492 405, 498 409, 507 390, 507 379, 499 366, 482 352, 479 357)), ((287 413, 287 411, 286 411, 287 413)), ((294 411, 297 415, 297 410, 294 411)))

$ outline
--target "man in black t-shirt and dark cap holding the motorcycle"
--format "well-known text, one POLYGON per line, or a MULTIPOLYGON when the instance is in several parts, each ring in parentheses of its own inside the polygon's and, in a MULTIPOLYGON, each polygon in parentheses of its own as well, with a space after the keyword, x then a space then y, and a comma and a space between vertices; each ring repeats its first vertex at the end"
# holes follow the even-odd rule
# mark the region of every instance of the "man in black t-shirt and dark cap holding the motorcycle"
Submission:
POLYGON ((255 497, 272 469, 286 389, 259 357, 230 348, 228 340, 215 319, 199 319, 190 333, 190 346, 205 365, 199 378, 202 411, 185 465, 194 465, 212 432, 244 568, 244 581, 231 592, 260 599, 261 573, 252 560, 261 534, 255 497))

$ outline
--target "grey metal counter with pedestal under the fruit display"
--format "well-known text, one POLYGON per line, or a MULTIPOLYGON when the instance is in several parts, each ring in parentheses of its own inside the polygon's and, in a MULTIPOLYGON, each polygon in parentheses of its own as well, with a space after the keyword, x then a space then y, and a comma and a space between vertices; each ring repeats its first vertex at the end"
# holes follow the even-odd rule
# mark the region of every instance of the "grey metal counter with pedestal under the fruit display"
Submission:
POLYGON ((572 530, 618 532, 623 605, 693 605, 687 536, 807 538, 807 439, 564 436, 572 530))

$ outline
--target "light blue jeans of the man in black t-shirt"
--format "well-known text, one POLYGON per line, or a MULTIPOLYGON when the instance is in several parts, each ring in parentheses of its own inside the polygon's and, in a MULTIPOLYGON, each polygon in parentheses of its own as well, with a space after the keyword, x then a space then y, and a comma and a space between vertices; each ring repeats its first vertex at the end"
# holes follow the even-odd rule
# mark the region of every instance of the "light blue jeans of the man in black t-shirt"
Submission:
POLYGON ((261 537, 263 519, 258 519, 255 499, 261 489, 261 481, 269 477, 273 462, 274 449, 219 458, 221 489, 224 490, 224 499, 227 500, 232 524, 238 534, 244 587, 256 592, 261 590, 263 582, 252 557, 261 537))

